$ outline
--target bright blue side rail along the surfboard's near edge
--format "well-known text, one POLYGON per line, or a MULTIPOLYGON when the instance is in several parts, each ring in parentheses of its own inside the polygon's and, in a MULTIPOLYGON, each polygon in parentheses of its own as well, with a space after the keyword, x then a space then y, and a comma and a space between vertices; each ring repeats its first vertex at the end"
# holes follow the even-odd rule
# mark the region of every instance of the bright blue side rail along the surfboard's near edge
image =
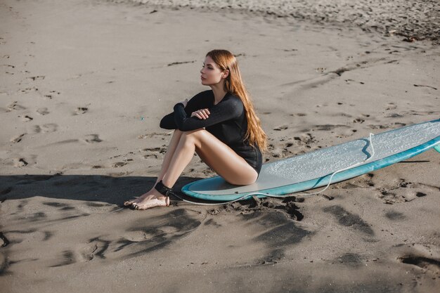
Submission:
MULTIPOLYGON (((438 120, 436 120, 438 121, 438 120)), ((388 131, 386 131, 388 132, 388 131)), ((350 178, 354 178, 356 176, 360 176, 362 174, 366 174, 371 171, 375 171, 377 169, 381 169, 384 167, 387 167, 392 164, 396 164, 397 162, 401 162, 405 159, 409 159, 410 157, 414 157, 415 155, 419 155, 422 152, 425 152, 426 150, 429 150, 430 148, 434 148, 435 150, 440 152, 440 136, 432 139, 431 141, 427 141, 426 143, 423 143, 421 145, 418 145, 414 148, 410 148, 408 150, 405 150, 403 152, 396 153, 394 155, 391 155, 389 157, 384 157, 382 159, 378 159, 373 162, 369 162, 367 164, 363 164, 358 167, 354 167, 352 169, 348 169, 345 171, 341 171, 340 173, 337 173, 332 178, 332 183, 337 183, 340 181, 344 181, 350 178)), ((267 195, 286 195, 290 193, 297 193, 299 191, 304 190, 310 190, 313 188, 319 188, 324 185, 328 185, 328 182, 330 180, 330 177, 332 174, 328 174, 325 176, 322 176, 320 178, 311 179, 309 181, 304 181, 300 183, 294 183, 290 185, 283 185, 276 188, 268 188, 264 190, 258 190, 258 191, 252 191, 249 193, 238 193, 238 194, 226 194, 226 195, 207 195, 203 193, 197 193, 193 190, 190 190, 190 186, 197 183, 198 181, 194 181, 192 183, 188 183, 187 185, 183 186, 182 192, 186 195, 189 195, 191 197, 195 197, 201 200, 211 200, 216 202, 225 202, 225 201, 231 201, 231 200, 237 200, 240 197, 243 197, 242 200, 247 200, 252 197, 252 194, 254 193, 266 193, 267 195), (248 197, 244 197, 245 195, 249 195, 248 197)), ((215 178, 215 177, 214 177, 215 178)), ((202 179, 202 180, 208 180, 202 179)), ((265 195, 256 195, 257 197, 266 197, 265 195)))

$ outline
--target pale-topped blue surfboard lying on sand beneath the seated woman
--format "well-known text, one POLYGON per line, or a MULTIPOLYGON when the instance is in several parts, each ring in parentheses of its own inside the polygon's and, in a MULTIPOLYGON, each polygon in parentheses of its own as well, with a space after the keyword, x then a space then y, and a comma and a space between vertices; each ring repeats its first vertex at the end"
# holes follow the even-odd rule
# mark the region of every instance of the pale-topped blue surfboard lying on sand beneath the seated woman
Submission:
POLYGON ((440 119, 375 134, 371 143, 369 138, 359 138, 263 164, 259 178, 251 185, 232 185, 214 176, 188 183, 182 192, 200 200, 218 202, 240 197, 246 200, 254 193, 258 193, 257 197, 286 195, 328 185, 332 174, 331 183, 337 183, 409 159, 430 148, 440 152, 440 119), (365 159, 368 161, 363 164, 334 174, 365 159))

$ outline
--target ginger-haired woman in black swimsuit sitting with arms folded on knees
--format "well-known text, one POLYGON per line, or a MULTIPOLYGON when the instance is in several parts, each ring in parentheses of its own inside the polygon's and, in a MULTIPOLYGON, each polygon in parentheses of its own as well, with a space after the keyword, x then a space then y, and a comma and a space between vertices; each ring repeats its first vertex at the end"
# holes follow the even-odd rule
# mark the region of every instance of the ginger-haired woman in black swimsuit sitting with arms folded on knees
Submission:
POLYGON ((169 206, 172 186, 194 152, 228 183, 247 185, 257 180, 266 134, 243 85, 235 56, 226 50, 209 51, 200 74, 202 84, 212 91, 202 91, 189 101, 177 103, 174 112, 162 118, 160 127, 176 130, 155 186, 141 197, 124 202, 125 206, 169 206))

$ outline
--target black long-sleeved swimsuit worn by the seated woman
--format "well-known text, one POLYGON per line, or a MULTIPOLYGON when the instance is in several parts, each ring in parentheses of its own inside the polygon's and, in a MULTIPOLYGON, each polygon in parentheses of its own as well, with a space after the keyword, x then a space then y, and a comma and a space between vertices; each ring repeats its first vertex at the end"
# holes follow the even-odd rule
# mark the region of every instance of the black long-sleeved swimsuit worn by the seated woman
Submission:
POLYGON ((220 141, 245 159, 259 174, 263 157, 258 145, 250 145, 245 139, 247 119, 242 101, 232 93, 226 93, 224 98, 216 105, 214 105, 214 101, 213 91, 208 90, 193 96, 186 107, 183 106, 183 103, 177 103, 174 105, 174 112, 162 118, 160 127, 181 131, 205 127, 209 133, 219 138, 220 141), (207 119, 190 117, 192 112, 205 108, 210 113, 207 119))

